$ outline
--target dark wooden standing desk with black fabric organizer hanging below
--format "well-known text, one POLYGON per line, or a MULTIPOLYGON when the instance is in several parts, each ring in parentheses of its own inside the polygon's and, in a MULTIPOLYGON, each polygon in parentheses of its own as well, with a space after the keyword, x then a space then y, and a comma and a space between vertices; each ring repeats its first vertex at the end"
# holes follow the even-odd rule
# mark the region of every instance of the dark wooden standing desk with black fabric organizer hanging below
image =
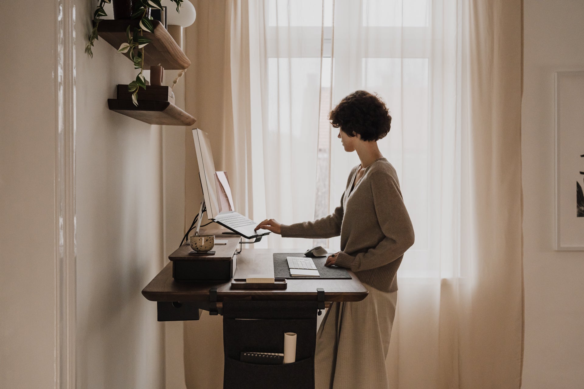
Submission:
MULTIPOLYGON (((244 248, 237 254, 234 278, 273 275, 273 253, 281 251, 244 248)), ((284 290, 234 290, 231 281, 174 281, 169 263, 142 290, 142 295, 157 302, 158 321, 199 320, 202 310, 223 315, 225 389, 312 389, 317 312, 324 309, 324 301, 357 302, 369 293, 353 272, 349 273, 352 279, 287 279, 284 290), (242 351, 283 352, 284 332, 298 334, 297 362, 257 365, 239 361, 242 351)))

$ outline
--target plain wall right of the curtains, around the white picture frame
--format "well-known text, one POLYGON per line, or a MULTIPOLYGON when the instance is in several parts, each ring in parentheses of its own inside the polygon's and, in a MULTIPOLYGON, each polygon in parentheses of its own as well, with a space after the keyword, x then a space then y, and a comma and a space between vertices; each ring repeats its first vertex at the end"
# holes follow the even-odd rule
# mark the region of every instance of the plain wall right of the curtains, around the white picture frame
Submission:
POLYGON ((524 0, 525 389, 584 387, 584 252, 554 251, 554 72, 584 70, 583 20, 581 0, 524 0))

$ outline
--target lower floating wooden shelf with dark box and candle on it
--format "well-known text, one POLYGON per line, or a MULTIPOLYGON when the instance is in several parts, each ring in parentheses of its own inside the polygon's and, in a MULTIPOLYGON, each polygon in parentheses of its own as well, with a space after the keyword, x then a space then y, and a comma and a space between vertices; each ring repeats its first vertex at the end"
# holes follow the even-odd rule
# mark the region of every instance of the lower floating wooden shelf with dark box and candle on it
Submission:
POLYGON ((138 119, 148 124, 193 125, 197 120, 170 101, 140 101, 138 106, 131 100, 107 99, 107 106, 112 111, 138 119))

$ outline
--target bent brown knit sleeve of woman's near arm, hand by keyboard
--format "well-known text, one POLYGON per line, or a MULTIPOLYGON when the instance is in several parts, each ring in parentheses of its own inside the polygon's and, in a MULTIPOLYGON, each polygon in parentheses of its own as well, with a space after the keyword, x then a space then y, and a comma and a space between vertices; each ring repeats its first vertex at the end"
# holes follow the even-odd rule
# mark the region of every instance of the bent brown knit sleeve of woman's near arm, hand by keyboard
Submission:
POLYGON ((335 265, 352 271, 374 269, 395 261, 414 241, 412 222, 395 178, 377 171, 370 182, 377 221, 385 237, 376 247, 364 253, 354 256, 342 251, 339 253, 335 265))

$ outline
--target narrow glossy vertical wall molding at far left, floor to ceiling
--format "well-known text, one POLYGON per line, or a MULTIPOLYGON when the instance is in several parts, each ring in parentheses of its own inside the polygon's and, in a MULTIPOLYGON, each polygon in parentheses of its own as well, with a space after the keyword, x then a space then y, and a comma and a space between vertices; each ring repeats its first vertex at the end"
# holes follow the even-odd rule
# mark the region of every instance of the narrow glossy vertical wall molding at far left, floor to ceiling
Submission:
POLYGON ((75 3, 57 0, 55 160, 55 389, 75 389, 75 3))

